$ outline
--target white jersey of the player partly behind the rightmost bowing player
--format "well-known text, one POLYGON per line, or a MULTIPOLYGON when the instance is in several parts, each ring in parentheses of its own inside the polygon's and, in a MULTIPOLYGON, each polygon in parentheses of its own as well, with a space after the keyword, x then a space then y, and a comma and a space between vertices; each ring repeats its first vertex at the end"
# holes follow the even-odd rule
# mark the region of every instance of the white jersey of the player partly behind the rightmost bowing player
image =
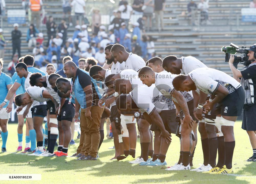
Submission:
POLYGON ((192 72, 198 68, 207 68, 207 66, 196 59, 193 56, 181 57, 182 59, 182 70, 180 74, 188 75, 189 72, 192 72))

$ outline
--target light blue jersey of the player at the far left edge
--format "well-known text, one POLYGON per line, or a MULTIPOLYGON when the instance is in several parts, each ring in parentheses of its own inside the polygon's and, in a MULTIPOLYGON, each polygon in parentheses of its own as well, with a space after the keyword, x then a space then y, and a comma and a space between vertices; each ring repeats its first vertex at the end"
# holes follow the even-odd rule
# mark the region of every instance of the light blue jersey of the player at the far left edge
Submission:
MULTIPOLYGON (((2 72, 0 75, 0 103, 3 103, 6 98, 8 93, 7 85, 9 84, 13 84, 11 77, 2 72)), ((8 103, 6 103, 3 108, 6 108, 7 106, 8 103)))

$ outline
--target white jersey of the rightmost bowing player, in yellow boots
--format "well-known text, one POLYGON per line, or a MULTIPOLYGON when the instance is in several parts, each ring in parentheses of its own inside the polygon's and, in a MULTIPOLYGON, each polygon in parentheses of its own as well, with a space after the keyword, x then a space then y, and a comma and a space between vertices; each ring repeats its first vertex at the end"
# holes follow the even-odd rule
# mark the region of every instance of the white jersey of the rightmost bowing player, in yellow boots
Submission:
POLYGON ((220 84, 232 93, 240 83, 228 74, 212 68, 198 68, 188 74, 197 88, 206 94, 215 94, 220 84))

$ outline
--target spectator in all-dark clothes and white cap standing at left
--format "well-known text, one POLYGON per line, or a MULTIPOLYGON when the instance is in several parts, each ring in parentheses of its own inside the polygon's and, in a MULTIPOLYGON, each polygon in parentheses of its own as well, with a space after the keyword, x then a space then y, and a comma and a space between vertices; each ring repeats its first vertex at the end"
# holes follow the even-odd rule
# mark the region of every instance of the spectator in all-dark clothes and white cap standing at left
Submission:
POLYGON ((16 52, 16 50, 18 50, 18 56, 19 58, 21 57, 20 55, 20 37, 21 37, 21 31, 18 30, 19 24, 15 23, 13 24, 14 30, 12 31, 12 46, 13 46, 13 56, 16 52))

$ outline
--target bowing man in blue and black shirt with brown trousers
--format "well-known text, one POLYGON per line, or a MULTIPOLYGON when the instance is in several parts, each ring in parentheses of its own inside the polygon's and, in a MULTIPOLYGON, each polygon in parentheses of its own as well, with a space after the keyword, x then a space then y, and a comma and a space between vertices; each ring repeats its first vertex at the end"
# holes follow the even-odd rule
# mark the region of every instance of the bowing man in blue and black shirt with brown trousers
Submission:
MULTIPOLYGON (((102 95, 96 81, 88 72, 79 69, 73 61, 66 62, 63 68, 67 78, 72 78, 71 94, 75 96, 75 119, 78 122, 78 112, 81 108, 81 136, 77 153, 80 153, 80 150, 85 151, 80 160, 97 160, 100 119, 104 110, 104 107, 98 106, 98 101, 102 95)), ((63 86, 61 91, 66 93, 68 88, 63 86)))

